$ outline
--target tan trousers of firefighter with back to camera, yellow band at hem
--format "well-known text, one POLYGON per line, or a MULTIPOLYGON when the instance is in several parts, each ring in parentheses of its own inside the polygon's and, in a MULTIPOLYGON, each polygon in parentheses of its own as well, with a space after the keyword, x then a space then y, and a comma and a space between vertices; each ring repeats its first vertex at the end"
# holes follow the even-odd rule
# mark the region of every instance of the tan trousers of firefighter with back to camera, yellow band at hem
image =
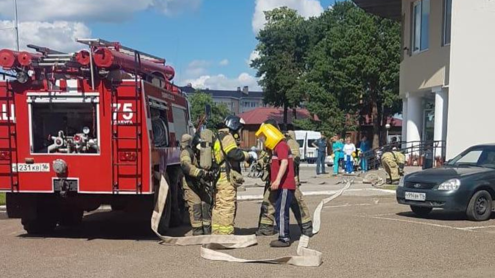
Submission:
POLYGON ((216 183, 215 202, 211 218, 213 234, 234 234, 236 205, 237 188, 227 180, 227 174, 222 172, 216 183))

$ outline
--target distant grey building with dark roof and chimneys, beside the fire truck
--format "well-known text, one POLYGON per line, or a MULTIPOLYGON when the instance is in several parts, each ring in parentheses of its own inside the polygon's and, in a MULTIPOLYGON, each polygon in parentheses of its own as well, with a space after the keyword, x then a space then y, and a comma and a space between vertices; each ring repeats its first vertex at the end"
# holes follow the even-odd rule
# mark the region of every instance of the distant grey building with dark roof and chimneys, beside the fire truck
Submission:
MULTIPOLYGON (((196 89, 191 84, 182 87, 182 92, 186 94, 195 93, 196 89)), ((224 103, 234 115, 239 115, 257 107, 266 107, 263 104, 263 92, 249 92, 249 87, 238 87, 235 91, 201 89, 203 93, 208 93, 215 103, 224 103)))

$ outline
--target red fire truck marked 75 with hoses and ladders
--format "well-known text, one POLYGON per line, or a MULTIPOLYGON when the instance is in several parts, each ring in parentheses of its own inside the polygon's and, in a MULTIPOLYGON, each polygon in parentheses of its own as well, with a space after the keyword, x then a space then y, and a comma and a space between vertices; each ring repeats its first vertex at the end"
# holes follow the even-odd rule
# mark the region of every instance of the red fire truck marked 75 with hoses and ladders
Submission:
POLYGON ((9 217, 44 233, 102 204, 151 212, 159 172, 171 188, 161 227, 179 222, 178 140, 193 126, 174 69, 119 43, 77 41, 88 49, 0 50, 0 191, 9 217))

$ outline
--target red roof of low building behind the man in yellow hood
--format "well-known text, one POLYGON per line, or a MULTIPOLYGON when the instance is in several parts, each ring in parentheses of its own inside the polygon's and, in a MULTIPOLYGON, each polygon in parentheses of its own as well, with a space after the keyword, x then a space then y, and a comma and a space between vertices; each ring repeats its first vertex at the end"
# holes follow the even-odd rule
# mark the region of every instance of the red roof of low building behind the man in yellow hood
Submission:
MULTIPOLYGON (((297 119, 311 118, 311 115, 306 109, 296 109, 296 115, 297 119)), ((268 119, 273 119, 277 121, 277 123, 283 123, 284 109, 273 107, 259 107, 239 114, 238 116, 243 118, 247 125, 260 125, 268 119)), ((315 120, 318 120, 318 117, 315 116, 315 120)), ((292 124, 292 109, 289 109, 288 111, 287 123, 292 124)))

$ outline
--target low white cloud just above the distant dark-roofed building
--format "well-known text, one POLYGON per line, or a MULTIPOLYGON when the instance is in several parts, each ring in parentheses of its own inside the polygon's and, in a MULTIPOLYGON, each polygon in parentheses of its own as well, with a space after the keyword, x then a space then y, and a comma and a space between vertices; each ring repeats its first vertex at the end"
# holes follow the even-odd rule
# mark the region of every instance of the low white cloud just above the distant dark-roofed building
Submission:
POLYGON ((223 74, 203 75, 196 79, 186 80, 184 83, 191 83, 194 88, 198 89, 236 90, 237 87, 249 86, 250 91, 261 91, 257 78, 245 72, 236 78, 227 78, 223 74))

